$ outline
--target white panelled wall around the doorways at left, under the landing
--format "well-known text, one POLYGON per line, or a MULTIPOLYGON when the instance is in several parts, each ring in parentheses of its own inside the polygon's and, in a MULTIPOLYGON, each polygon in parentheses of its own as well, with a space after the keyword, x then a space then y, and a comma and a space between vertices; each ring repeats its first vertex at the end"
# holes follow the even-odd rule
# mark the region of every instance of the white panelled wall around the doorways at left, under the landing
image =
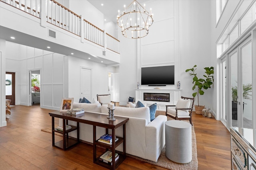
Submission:
POLYGON ((64 55, 6 41, 6 70, 16 72, 16 105, 29 106, 29 70, 41 70, 41 107, 59 109, 64 97, 64 55))

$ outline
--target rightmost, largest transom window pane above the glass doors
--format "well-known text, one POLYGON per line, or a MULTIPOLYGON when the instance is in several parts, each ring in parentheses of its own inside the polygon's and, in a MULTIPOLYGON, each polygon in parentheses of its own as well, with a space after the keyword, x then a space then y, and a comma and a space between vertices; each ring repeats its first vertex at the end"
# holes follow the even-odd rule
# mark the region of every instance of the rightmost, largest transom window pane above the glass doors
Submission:
POLYGON ((243 33, 250 24, 255 20, 256 17, 256 3, 252 8, 246 13, 246 15, 241 20, 241 33, 243 33))

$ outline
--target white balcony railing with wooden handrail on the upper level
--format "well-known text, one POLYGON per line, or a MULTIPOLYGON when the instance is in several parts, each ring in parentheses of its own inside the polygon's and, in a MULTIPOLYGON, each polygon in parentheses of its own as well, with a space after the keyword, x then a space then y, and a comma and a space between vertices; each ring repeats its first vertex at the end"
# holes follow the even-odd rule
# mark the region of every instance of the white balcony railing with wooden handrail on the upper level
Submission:
POLYGON ((54 0, 0 0, 115 53, 120 41, 54 0), (45 2, 45 3, 44 3, 45 2), (45 7, 43 6, 45 4, 45 7), (44 11, 45 9, 45 11, 44 11), (42 18, 43 17, 43 18, 42 18))

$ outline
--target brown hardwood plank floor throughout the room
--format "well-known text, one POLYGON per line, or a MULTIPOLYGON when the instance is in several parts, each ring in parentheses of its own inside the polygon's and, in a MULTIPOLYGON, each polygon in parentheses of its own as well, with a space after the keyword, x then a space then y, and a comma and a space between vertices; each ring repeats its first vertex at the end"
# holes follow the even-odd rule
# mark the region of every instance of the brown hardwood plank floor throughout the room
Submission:
MULTIPOLYGON (((92 145, 79 143, 63 151, 52 147, 51 133, 40 129, 51 126, 49 112, 39 105, 11 108, 7 126, 0 127, 1 170, 104 170, 92 161, 92 145)), ((165 114, 157 111, 156 115, 165 114)), ((170 119, 170 118, 168 118, 170 119)), ((55 119, 58 124, 58 119, 55 119)), ((193 115, 196 132, 198 170, 230 170, 230 133, 214 118, 193 115)), ((56 141, 62 137, 55 135, 56 141)), ((104 151, 103 149, 99 149, 104 151)), ((118 170, 164 170, 129 156, 118 170)))

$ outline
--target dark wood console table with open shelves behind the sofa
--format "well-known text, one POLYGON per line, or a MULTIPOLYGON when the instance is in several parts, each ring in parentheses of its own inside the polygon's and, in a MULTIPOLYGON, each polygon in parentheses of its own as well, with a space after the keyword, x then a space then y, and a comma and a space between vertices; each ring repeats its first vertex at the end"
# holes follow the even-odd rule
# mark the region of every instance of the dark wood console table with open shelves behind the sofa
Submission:
POLYGON ((60 149, 66 150, 77 143, 79 143, 79 123, 86 123, 89 125, 93 125, 93 162, 95 164, 98 164, 100 166, 104 166, 105 168, 115 170, 126 158, 126 145, 125 145, 125 136, 126 136, 126 122, 129 120, 129 118, 126 117, 118 117, 115 116, 115 121, 109 121, 106 117, 108 115, 104 114, 97 114, 97 113, 90 113, 85 112, 79 115, 71 115, 67 114, 66 112, 60 112, 60 111, 54 111, 49 113, 50 116, 52 116, 52 146, 58 147, 60 149), (57 129, 54 129, 54 117, 58 117, 60 119, 63 119, 63 131, 58 131, 57 129), (66 130, 66 125, 68 125, 68 120, 70 121, 76 121, 77 126, 72 126, 72 129, 66 130), (104 144, 101 142, 98 142, 98 139, 96 139, 96 126, 103 127, 106 129, 106 134, 108 134, 108 129, 111 129, 112 136, 116 136, 116 129, 120 126, 123 126, 123 137, 118 137, 118 141, 113 142, 112 145, 104 144), (68 138, 68 133, 71 131, 77 131, 77 140, 68 138), (63 140, 55 143, 54 139, 54 133, 62 133, 63 134, 63 140), (123 152, 116 151, 116 147, 118 147, 121 143, 123 143, 123 152), (105 147, 106 151, 111 150, 112 155, 115 155, 117 152, 119 154, 119 159, 117 162, 115 162, 115 157, 112 157, 112 165, 107 164, 105 162, 99 161, 100 156, 96 156, 97 147, 96 146, 105 147))

